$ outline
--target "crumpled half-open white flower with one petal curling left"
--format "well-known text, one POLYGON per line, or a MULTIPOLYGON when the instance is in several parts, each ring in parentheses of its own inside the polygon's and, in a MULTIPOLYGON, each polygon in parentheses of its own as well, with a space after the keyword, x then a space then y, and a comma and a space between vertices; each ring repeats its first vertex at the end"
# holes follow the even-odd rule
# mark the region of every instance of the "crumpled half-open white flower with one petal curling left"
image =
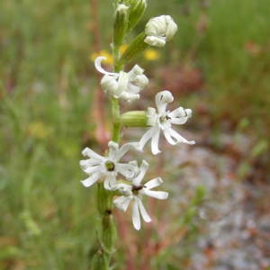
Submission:
POLYGON ((139 99, 140 90, 148 85, 148 77, 143 74, 144 70, 135 65, 130 72, 107 72, 101 66, 103 59, 105 57, 98 57, 94 60, 94 67, 104 74, 101 80, 103 91, 128 102, 139 99))

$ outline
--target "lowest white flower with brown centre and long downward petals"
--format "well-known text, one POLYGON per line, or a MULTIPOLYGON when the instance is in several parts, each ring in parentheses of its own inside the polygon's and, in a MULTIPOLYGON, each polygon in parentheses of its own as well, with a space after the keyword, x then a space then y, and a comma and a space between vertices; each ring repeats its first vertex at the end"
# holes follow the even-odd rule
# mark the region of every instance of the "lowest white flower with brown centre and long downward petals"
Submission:
POLYGON ((143 220, 150 222, 151 218, 145 210, 141 197, 147 195, 149 197, 157 198, 159 200, 166 200, 168 193, 162 191, 151 190, 163 183, 160 177, 148 181, 146 184, 141 184, 141 181, 148 170, 147 161, 143 160, 139 168, 139 172, 130 179, 131 184, 118 184, 117 188, 121 192, 121 196, 114 199, 113 203, 121 211, 127 211, 130 202, 132 205, 132 222, 135 229, 140 229, 140 215, 143 220))

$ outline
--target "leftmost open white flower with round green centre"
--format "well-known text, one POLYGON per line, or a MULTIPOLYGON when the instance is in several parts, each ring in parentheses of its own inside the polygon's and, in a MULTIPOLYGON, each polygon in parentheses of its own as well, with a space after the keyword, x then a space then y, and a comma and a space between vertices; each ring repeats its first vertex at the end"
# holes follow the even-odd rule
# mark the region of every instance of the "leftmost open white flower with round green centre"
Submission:
POLYGON ((89 175, 88 178, 81 181, 85 187, 91 186, 97 180, 103 180, 104 188, 112 190, 116 184, 116 176, 118 173, 125 177, 132 177, 137 167, 132 164, 120 163, 119 160, 130 150, 132 144, 125 144, 121 148, 113 141, 108 143, 109 151, 107 157, 96 154, 90 148, 85 148, 82 154, 90 157, 80 161, 82 170, 89 175))

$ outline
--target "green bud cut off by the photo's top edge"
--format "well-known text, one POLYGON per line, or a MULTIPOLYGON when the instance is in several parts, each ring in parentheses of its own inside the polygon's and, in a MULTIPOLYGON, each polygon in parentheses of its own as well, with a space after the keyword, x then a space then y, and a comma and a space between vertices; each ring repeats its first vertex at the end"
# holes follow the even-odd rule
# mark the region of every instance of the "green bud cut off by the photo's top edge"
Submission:
POLYGON ((146 0, 130 0, 130 17, 127 31, 132 30, 139 23, 146 7, 146 0))

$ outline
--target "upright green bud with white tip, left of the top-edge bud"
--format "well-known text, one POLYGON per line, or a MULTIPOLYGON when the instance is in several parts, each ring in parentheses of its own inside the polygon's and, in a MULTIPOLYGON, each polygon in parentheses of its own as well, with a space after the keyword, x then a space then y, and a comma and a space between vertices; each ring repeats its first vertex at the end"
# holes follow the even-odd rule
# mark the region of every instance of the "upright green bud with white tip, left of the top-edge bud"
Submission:
POLYGON ((118 48, 121 46, 122 40, 128 29, 129 23, 129 7, 125 4, 118 4, 116 8, 113 45, 118 48))

